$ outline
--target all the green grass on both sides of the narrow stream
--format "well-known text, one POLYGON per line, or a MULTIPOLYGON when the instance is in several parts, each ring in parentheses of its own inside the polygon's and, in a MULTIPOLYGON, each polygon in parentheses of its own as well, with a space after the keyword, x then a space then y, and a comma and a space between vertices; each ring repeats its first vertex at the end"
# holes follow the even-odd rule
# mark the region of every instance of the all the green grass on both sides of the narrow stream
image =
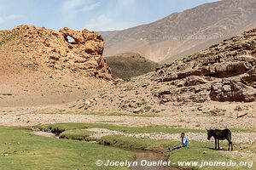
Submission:
MULTIPOLYGON (((177 161, 244 161, 239 156, 229 157, 223 150, 212 150, 213 143, 189 142, 189 148, 168 152, 167 148, 176 145, 177 141, 166 139, 148 139, 125 137, 122 135, 104 136, 97 140, 99 144, 89 144, 78 140, 90 140, 94 132, 89 127, 104 127, 127 133, 180 133, 198 132, 194 129, 178 129, 176 127, 126 127, 111 124, 56 123, 38 125, 40 129, 60 133, 55 139, 32 134, 31 127, 0 127, 0 169, 127 169, 126 167, 96 167, 96 160, 124 161, 135 160, 135 150, 149 150, 165 154, 172 162, 177 161), (67 138, 67 139, 65 139, 67 138), (73 140, 75 139, 75 140, 73 140), (102 145, 101 145, 102 144, 102 145), (108 146, 106 146, 108 145, 108 146), (122 150, 125 149, 125 150, 122 150), (127 151, 131 150, 131 151, 127 151)), ((227 148, 227 144, 223 144, 227 148)), ((240 150, 235 146, 235 150, 240 150)), ((255 146, 247 150, 256 152, 255 146)), ((245 150, 245 151, 247 151, 245 150)), ((248 167, 202 167, 210 169, 248 169, 248 167)), ((255 166, 253 167, 255 169, 255 166)), ((251 169, 253 169, 251 168, 251 169)), ((193 169, 193 167, 187 167, 193 169)))

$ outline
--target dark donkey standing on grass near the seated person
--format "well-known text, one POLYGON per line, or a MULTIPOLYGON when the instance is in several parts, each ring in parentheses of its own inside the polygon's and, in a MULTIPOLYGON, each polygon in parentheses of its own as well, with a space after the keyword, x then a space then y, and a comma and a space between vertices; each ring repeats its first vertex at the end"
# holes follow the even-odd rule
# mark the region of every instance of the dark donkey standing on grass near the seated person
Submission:
POLYGON ((233 144, 231 141, 231 131, 230 129, 226 128, 224 130, 218 130, 218 129, 209 129, 207 130, 207 139, 210 140, 211 138, 215 139, 215 150, 217 150, 217 144, 218 144, 218 150, 219 150, 219 140, 227 139, 229 141, 229 149, 231 145, 231 151, 233 150, 233 144))

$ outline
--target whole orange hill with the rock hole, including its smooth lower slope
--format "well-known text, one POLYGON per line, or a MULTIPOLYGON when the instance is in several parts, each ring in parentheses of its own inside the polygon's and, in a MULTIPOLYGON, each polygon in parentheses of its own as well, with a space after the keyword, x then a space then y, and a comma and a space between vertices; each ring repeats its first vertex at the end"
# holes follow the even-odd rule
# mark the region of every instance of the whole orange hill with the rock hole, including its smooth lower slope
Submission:
POLYGON ((0 31, 0 105, 62 103, 96 93, 113 82, 103 45, 88 30, 0 31))

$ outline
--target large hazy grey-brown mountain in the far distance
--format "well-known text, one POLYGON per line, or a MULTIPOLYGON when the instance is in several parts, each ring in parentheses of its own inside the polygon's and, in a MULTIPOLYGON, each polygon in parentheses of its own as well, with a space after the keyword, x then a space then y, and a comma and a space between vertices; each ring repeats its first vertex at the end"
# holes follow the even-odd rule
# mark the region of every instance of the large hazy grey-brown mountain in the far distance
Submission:
POLYGON ((178 59, 254 28, 255 15, 255 0, 203 4, 147 25, 102 32, 104 56, 137 52, 157 62, 178 59))

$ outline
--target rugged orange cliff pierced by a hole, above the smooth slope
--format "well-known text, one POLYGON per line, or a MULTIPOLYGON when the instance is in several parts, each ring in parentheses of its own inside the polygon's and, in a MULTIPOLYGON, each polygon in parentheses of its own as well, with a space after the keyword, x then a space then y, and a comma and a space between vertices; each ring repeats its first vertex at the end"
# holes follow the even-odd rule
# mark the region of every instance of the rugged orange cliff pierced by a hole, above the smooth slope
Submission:
POLYGON ((1 31, 0 40, 3 71, 54 70, 113 80, 102 59, 102 36, 93 31, 18 26, 12 31, 1 31))

